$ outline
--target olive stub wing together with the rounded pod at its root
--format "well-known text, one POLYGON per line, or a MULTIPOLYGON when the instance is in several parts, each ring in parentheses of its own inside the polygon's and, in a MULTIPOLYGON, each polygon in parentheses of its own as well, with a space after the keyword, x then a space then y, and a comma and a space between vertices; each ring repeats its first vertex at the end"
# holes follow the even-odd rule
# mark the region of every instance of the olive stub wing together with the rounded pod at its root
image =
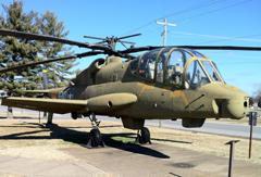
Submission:
POLYGON ((97 114, 109 113, 123 110, 135 103, 137 96, 132 93, 111 93, 103 94, 88 100, 66 100, 66 99, 36 99, 10 97, 1 100, 1 105, 52 112, 59 114, 65 113, 87 113, 97 114))

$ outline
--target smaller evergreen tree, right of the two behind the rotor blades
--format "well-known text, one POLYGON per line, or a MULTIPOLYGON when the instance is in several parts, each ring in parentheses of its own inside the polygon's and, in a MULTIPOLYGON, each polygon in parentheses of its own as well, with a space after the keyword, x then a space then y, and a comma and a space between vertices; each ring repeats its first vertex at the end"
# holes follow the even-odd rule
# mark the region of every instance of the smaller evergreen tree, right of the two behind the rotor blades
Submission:
MULTIPOLYGON (((38 18, 39 30, 42 35, 48 35, 52 37, 65 38, 69 35, 69 30, 64 31, 65 26, 63 22, 58 22, 58 16, 53 12, 47 11, 41 14, 38 18)), ((44 60, 49 60, 53 58, 72 55, 71 47, 64 47, 60 42, 42 41, 40 53, 44 60)), ((48 69, 48 81, 49 87, 63 87, 67 85, 67 75, 75 74, 72 69, 73 66, 77 65, 74 62, 76 59, 65 60, 55 63, 46 64, 45 67, 48 69)))

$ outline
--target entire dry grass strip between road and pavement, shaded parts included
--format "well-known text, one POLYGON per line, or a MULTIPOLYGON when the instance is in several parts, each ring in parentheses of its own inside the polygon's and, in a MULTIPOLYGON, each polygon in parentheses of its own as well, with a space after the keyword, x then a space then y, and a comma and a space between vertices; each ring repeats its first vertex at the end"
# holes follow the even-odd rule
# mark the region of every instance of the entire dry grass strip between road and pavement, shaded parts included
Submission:
MULTIPOLYGON (((48 161, 80 161, 60 151, 60 149, 85 146, 91 130, 90 122, 88 119, 54 119, 53 123, 54 125, 52 126, 46 126, 45 124, 38 124, 38 119, 0 119, 0 154, 48 161)), ((260 140, 252 141, 252 159, 249 160, 249 141, 245 138, 152 126, 149 129, 151 141, 154 143, 163 143, 225 157, 229 155, 229 146, 225 146, 225 143, 231 140, 240 140, 236 143, 234 157, 261 164, 260 140)), ((133 142, 136 138, 136 130, 125 129, 121 123, 103 121, 100 131, 108 146, 133 142)))

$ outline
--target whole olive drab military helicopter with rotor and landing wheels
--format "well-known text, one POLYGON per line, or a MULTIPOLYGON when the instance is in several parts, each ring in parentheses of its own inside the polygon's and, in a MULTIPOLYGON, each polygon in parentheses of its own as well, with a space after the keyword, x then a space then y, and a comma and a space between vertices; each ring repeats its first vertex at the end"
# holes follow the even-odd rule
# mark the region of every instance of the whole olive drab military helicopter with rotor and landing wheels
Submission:
MULTIPOLYGON (((184 127, 201 127, 206 118, 243 118, 249 106, 249 96, 222 78, 215 63, 196 50, 256 50, 256 47, 176 46, 139 47, 122 39, 107 37, 98 43, 85 43, 50 36, 0 29, 0 35, 46 40, 91 49, 85 53, 0 69, 0 73, 67 59, 107 54, 72 79, 66 88, 36 90, 48 98, 2 98, 1 104, 44 112, 65 114, 72 118, 89 117, 90 147, 102 146, 100 122, 96 115, 122 119, 125 128, 138 130, 137 142, 150 142, 145 119, 182 119, 184 127), (130 43, 126 50, 115 50, 116 42, 130 43), (147 51, 138 56, 130 53, 147 51), (123 62, 122 59, 127 59, 123 62)), ((35 91, 35 90, 34 90, 35 91)))

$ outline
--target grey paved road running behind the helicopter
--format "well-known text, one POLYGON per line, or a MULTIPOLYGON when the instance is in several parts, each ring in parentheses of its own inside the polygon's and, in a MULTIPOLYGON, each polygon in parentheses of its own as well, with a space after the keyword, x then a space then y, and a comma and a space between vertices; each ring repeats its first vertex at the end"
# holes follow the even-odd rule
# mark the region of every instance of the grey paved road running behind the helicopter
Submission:
MULTIPOLYGON (((0 106, 0 112, 7 111, 7 106, 0 106)), ((14 113, 22 113, 21 109, 13 109, 14 113)), ((39 114, 37 111, 30 110, 23 110, 24 113, 35 113, 39 114)), ((15 114, 14 114, 15 115, 15 114)), ((41 113, 42 116, 42 113, 41 113)), ((38 116, 37 116, 38 117, 38 116)), ((36 118, 37 118, 36 117, 36 118)), ((54 114, 54 119, 70 119, 71 114, 54 114)), ((111 121, 111 122, 121 122, 121 119, 108 116, 97 116, 100 121, 111 121)), ((151 126, 159 126, 159 119, 146 121, 146 125, 151 126)), ((235 125, 235 124, 223 124, 223 123, 204 123, 201 128, 184 128, 182 126, 181 121, 170 121, 163 119, 162 121, 163 127, 166 128, 174 128, 174 129, 183 129, 183 130, 190 130, 190 131, 199 131, 199 132, 208 132, 208 134, 217 134, 217 135, 225 135, 225 136, 234 136, 234 137, 244 137, 249 138, 250 136, 250 126, 248 125, 235 125)), ((253 135, 254 139, 261 139, 261 126, 253 127, 253 135)))

